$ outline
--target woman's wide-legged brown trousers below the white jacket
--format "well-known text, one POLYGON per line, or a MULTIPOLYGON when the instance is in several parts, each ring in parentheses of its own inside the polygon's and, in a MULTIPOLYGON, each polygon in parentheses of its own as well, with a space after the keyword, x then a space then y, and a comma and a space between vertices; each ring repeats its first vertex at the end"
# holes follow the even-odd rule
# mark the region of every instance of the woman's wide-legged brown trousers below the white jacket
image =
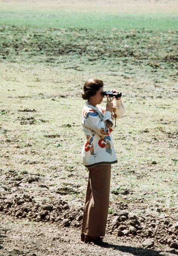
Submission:
POLYGON ((109 208, 111 165, 102 164, 88 170, 89 179, 82 233, 87 236, 105 236, 109 208))

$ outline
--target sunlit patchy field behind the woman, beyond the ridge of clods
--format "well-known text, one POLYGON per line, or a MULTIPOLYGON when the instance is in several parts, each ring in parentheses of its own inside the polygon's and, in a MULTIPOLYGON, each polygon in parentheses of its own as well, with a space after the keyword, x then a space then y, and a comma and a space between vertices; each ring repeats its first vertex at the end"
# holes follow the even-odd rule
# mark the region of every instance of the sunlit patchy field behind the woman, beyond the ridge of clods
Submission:
POLYGON ((1 193, 84 203, 81 93, 95 77, 126 106, 113 131, 110 213, 122 202, 177 221, 176 1, 0 4, 1 193))

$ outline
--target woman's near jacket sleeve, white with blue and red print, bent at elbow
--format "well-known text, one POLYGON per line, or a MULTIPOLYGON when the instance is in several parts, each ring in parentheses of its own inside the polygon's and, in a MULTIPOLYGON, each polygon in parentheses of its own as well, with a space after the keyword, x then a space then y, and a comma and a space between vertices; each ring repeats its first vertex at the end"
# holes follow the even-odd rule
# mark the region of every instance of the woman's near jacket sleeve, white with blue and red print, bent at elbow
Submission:
POLYGON ((97 111, 91 110, 85 112, 83 113, 82 125, 94 131, 99 136, 109 135, 113 131, 111 112, 106 111, 103 120, 99 117, 97 111))

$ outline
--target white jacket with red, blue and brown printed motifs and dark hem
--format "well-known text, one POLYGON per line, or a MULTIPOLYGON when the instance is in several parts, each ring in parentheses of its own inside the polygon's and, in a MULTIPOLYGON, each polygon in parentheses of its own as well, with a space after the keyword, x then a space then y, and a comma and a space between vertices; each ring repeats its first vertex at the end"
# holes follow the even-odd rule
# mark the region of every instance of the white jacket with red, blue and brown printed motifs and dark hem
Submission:
POLYGON ((115 100, 113 109, 115 114, 101 106, 94 107, 89 102, 83 107, 82 127, 86 141, 82 148, 82 159, 87 168, 117 163, 111 132, 115 118, 121 118, 125 112, 121 99, 115 100))

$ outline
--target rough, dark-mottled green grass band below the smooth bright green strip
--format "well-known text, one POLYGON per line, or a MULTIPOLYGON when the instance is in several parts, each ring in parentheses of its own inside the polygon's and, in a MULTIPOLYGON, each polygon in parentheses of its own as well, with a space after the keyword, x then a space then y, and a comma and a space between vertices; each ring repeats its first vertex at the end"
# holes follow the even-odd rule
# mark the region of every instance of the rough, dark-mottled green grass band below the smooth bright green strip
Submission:
MULTIPOLYGON (((176 67, 178 58, 177 34, 174 30, 48 28, 42 32, 39 28, 3 26, 0 31, 1 57, 13 62, 33 60, 50 65, 63 63, 66 69, 80 71, 84 65, 95 65, 101 60, 102 65, 110 63, 110 69, 117 71, 127 63, 155 70, 172 69, 176 67)), ((35 79, 38 81, 39 78, 35 79)))

